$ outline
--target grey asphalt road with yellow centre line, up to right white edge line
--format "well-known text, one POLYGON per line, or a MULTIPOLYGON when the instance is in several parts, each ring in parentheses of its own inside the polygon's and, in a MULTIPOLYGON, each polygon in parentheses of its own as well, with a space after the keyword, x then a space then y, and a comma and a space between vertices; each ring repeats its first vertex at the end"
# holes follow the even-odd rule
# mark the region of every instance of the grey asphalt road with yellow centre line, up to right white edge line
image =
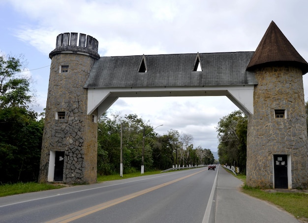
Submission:
POLYGON ((209 222, 217 172, 194 168, 0 197, 0 223, 209 222))

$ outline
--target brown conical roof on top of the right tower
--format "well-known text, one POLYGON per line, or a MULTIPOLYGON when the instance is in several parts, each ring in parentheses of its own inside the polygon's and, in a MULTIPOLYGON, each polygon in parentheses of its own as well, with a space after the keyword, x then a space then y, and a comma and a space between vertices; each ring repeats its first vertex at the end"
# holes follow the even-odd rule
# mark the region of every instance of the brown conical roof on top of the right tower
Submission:
POLYGON ((308 63, 295 50, 274 21, 271 22, 269 28, 266 30, 247 66, 247 70, 273 64, 294 65, 299 67, 303 74, 308 72, 308 63))

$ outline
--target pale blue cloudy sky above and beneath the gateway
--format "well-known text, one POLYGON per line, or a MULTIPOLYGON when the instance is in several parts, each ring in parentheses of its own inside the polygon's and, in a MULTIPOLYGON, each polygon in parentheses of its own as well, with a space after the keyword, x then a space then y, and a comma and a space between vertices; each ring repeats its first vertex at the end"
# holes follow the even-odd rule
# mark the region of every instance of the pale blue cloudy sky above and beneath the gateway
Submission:
MULTIPOLYGON (((271 21, 308 60, 307 0, 0 0, 0 52, 25 59, 34 81, 32 109, 46 107, 56 37, 98 40, 100 56, 255 51, 271 21)), ((303 76, 308 101, 308 74, 303 76)), ((159 135, 190 134, 194 147, 217 151, 216 127, 239 110, 228 98, 119 98, 109 114, 137 114, 159 135)))

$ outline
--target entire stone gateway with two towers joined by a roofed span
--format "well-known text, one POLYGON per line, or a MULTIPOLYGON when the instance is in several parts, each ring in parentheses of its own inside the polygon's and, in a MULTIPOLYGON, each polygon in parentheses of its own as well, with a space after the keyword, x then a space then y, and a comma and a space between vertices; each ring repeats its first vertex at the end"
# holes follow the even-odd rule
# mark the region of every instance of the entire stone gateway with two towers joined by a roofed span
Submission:
POLYGON ((288 188, 308 186, 301 84, 308 63, 274 22, 255 52, 99 57, 96 39, 80 34, 78 45, 77 36, 60 34, 50 53, 41 182, 50 151, 65 152, 64 183, 96 181, 96 119, 119 97, 225 95, 248 115, 247 184, 273 187, 273 157, 285 154, 292 157, 288 188))

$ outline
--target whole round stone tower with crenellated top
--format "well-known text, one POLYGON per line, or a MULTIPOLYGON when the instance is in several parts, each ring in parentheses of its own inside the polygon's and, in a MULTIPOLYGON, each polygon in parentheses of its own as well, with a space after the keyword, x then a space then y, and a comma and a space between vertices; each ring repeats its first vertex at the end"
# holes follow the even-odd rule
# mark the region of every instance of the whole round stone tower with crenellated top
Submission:
POLYGON ((51 58, 39 182, 96 182, 97 111, 83 88, 98 55, 92 36, 62 33, 51 58), (79 37, 79 44, 77 44, 79 37))

